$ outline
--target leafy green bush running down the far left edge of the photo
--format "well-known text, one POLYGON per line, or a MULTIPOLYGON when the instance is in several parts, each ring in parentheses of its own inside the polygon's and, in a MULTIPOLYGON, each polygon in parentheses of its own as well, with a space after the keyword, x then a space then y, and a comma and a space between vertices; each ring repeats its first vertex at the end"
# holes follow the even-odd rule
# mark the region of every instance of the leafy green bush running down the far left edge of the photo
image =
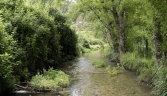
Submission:
MULTIPOLYGON (((16 49, 16 41, 9 35, 5 23, 0 17, 0 93, 10 91, 18 81, 18 75, 15 74, 15 67, 20 65, 17 56, 19 49, 16 49)), ((21 70, 20 70, 21 71, 21 70)))

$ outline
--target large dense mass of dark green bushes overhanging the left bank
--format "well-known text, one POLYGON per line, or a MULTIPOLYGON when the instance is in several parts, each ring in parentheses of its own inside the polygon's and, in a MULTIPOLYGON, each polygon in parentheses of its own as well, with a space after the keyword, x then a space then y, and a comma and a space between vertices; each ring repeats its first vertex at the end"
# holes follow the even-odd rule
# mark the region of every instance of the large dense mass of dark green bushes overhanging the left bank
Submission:
MULTIPOLYGON (((22 2, 10 10, 10 4, 1 2, 1 7, 6 7, 2 10, 2 17, 11 23, 7 31, 11 33, 15 30, 13 37, 19 47, 25 50, 26 55, 21 61, 25 62, 28 70, 42 70, 61 59, 77 56, 77 36, 65 23, 66 18, 53 6, 41 5, 46 10, 36 10, 29 3, 22 2)), ((40 6, 40 3, 34 3, 40 6)))

